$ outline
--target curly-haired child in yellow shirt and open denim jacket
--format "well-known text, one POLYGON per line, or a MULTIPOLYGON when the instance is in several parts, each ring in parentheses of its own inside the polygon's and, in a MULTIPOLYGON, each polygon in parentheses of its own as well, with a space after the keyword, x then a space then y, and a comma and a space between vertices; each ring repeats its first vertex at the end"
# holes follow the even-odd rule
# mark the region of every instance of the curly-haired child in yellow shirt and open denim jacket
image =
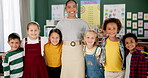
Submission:
POLYGON ((122 41, 116 37, 121 26, 121 22, 117 18, 108 18, 103 24, 103 30, 108 35, 108 37, 103 38, 102 40, 102 55, 100 58, 100 62, 105 67, 105 78, 124 77, 124 46, 122 41))

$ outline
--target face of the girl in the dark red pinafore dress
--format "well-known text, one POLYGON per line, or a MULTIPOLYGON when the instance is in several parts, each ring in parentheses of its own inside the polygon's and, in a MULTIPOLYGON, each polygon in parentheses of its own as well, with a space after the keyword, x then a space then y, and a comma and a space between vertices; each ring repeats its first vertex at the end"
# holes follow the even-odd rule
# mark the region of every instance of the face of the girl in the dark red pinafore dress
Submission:
POLYGON ((35 40, 39 37, 40 30, 36 25, 31 24, 27 30, 27 34, 31 40, 35 40))

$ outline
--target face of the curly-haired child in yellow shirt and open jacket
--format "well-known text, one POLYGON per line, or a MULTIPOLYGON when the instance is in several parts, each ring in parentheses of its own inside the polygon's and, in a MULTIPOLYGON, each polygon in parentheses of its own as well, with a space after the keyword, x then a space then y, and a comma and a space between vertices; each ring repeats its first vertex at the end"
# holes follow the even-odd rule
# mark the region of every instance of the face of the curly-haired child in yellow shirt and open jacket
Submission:
POLYGON ((116 37, 117 32, 118 32, 118 26, 116 23, 108 23, 106 25, 106 30, 105 30, 106 34, 108 34, 109 37, 116 37))

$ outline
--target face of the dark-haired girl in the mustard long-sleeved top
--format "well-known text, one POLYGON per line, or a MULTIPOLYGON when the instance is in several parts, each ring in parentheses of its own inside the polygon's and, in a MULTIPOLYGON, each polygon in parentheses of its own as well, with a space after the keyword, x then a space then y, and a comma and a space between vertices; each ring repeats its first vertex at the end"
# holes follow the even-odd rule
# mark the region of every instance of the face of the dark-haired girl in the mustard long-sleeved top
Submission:
POLYGON ((58 45, 59 41, 60 41, 60 35, 57 34, 56 32, 51 33, 49 37, 49 42, 51 42, 52 45, 56 46, 58 45))

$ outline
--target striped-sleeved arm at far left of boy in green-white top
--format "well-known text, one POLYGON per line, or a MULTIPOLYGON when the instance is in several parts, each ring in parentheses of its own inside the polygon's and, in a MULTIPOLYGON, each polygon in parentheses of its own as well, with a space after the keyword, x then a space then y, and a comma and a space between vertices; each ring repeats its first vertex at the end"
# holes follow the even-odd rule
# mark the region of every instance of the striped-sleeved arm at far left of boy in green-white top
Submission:
POLYGON ((5 57, 3 63, 3 71, 5 78, 10 78, 10 65, 9 65, 9 58, 5 57))

